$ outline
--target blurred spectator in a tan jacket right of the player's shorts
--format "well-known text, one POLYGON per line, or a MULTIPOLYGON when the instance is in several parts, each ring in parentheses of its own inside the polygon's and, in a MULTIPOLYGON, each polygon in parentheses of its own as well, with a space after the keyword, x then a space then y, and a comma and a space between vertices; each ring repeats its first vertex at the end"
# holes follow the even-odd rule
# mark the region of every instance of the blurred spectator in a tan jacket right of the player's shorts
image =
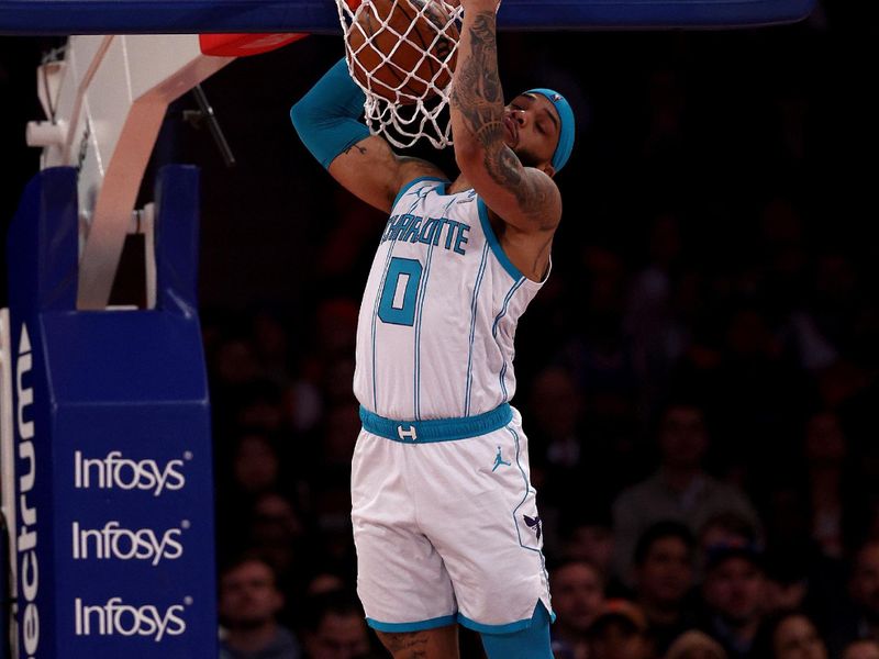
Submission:
POLYGON ((659 469, 632 485, 613 504, 617 574, 631 583, 632 554, 647 527, 664 520, 686 523, 693 533, 711 517, 734 512, 754 526, 757 515, 747 496, 734 485, 711 477, 702 466, 709 446, 701 407, 671 403, 658 431, 659 469))

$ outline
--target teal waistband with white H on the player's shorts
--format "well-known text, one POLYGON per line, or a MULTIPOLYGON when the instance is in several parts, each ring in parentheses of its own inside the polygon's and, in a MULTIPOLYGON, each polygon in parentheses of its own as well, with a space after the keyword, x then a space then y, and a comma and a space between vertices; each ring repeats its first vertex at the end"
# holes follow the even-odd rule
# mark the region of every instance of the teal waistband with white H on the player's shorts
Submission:
POLYGON ((513 409, 504 403, 490 412, 459 418, 431 418, 427 421, 394 421, 374 414, 360 405, 360 421, 364 428, 374 435, 402 442, 403 444, 426 444, 430 442, 452 442, 486 435, 502 428, 513 418, 513 409))

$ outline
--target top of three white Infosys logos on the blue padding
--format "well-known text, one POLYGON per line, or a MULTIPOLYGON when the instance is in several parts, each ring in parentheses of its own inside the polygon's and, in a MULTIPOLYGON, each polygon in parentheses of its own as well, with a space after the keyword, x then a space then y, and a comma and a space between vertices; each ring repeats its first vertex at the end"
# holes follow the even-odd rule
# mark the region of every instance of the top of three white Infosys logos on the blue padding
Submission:
POLYGON ((180 490, 186 485, 183 462, 191 454, 187 453, 183 458, 160 465, 152 459, 126 458, 119 450, 103 458, 86 458, 78 450, 74 454, 74 487, 78 490, 144 490, 159 496, 166 490, 180 490))

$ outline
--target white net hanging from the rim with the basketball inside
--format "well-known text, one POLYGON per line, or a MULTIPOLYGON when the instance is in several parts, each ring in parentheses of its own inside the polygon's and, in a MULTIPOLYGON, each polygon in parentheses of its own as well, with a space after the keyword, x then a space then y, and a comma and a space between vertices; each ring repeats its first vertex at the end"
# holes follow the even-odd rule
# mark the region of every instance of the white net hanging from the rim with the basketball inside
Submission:
POLYGON ((457 0, 336 0, 348 71, 370 132, 407 148, 452 144, 448 116, 463 8, 457 0))

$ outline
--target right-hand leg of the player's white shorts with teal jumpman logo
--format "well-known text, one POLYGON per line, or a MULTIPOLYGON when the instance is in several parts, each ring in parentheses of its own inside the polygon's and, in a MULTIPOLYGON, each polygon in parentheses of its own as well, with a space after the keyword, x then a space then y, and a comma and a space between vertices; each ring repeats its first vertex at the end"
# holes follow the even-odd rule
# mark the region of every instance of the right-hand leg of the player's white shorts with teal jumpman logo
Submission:
POLYGON ((424 448, 425 459, 412 461, 419 518, 454 584, 458 623, 503 633, 527 626, 538 601, 550 611, 520 425, 424 448))

